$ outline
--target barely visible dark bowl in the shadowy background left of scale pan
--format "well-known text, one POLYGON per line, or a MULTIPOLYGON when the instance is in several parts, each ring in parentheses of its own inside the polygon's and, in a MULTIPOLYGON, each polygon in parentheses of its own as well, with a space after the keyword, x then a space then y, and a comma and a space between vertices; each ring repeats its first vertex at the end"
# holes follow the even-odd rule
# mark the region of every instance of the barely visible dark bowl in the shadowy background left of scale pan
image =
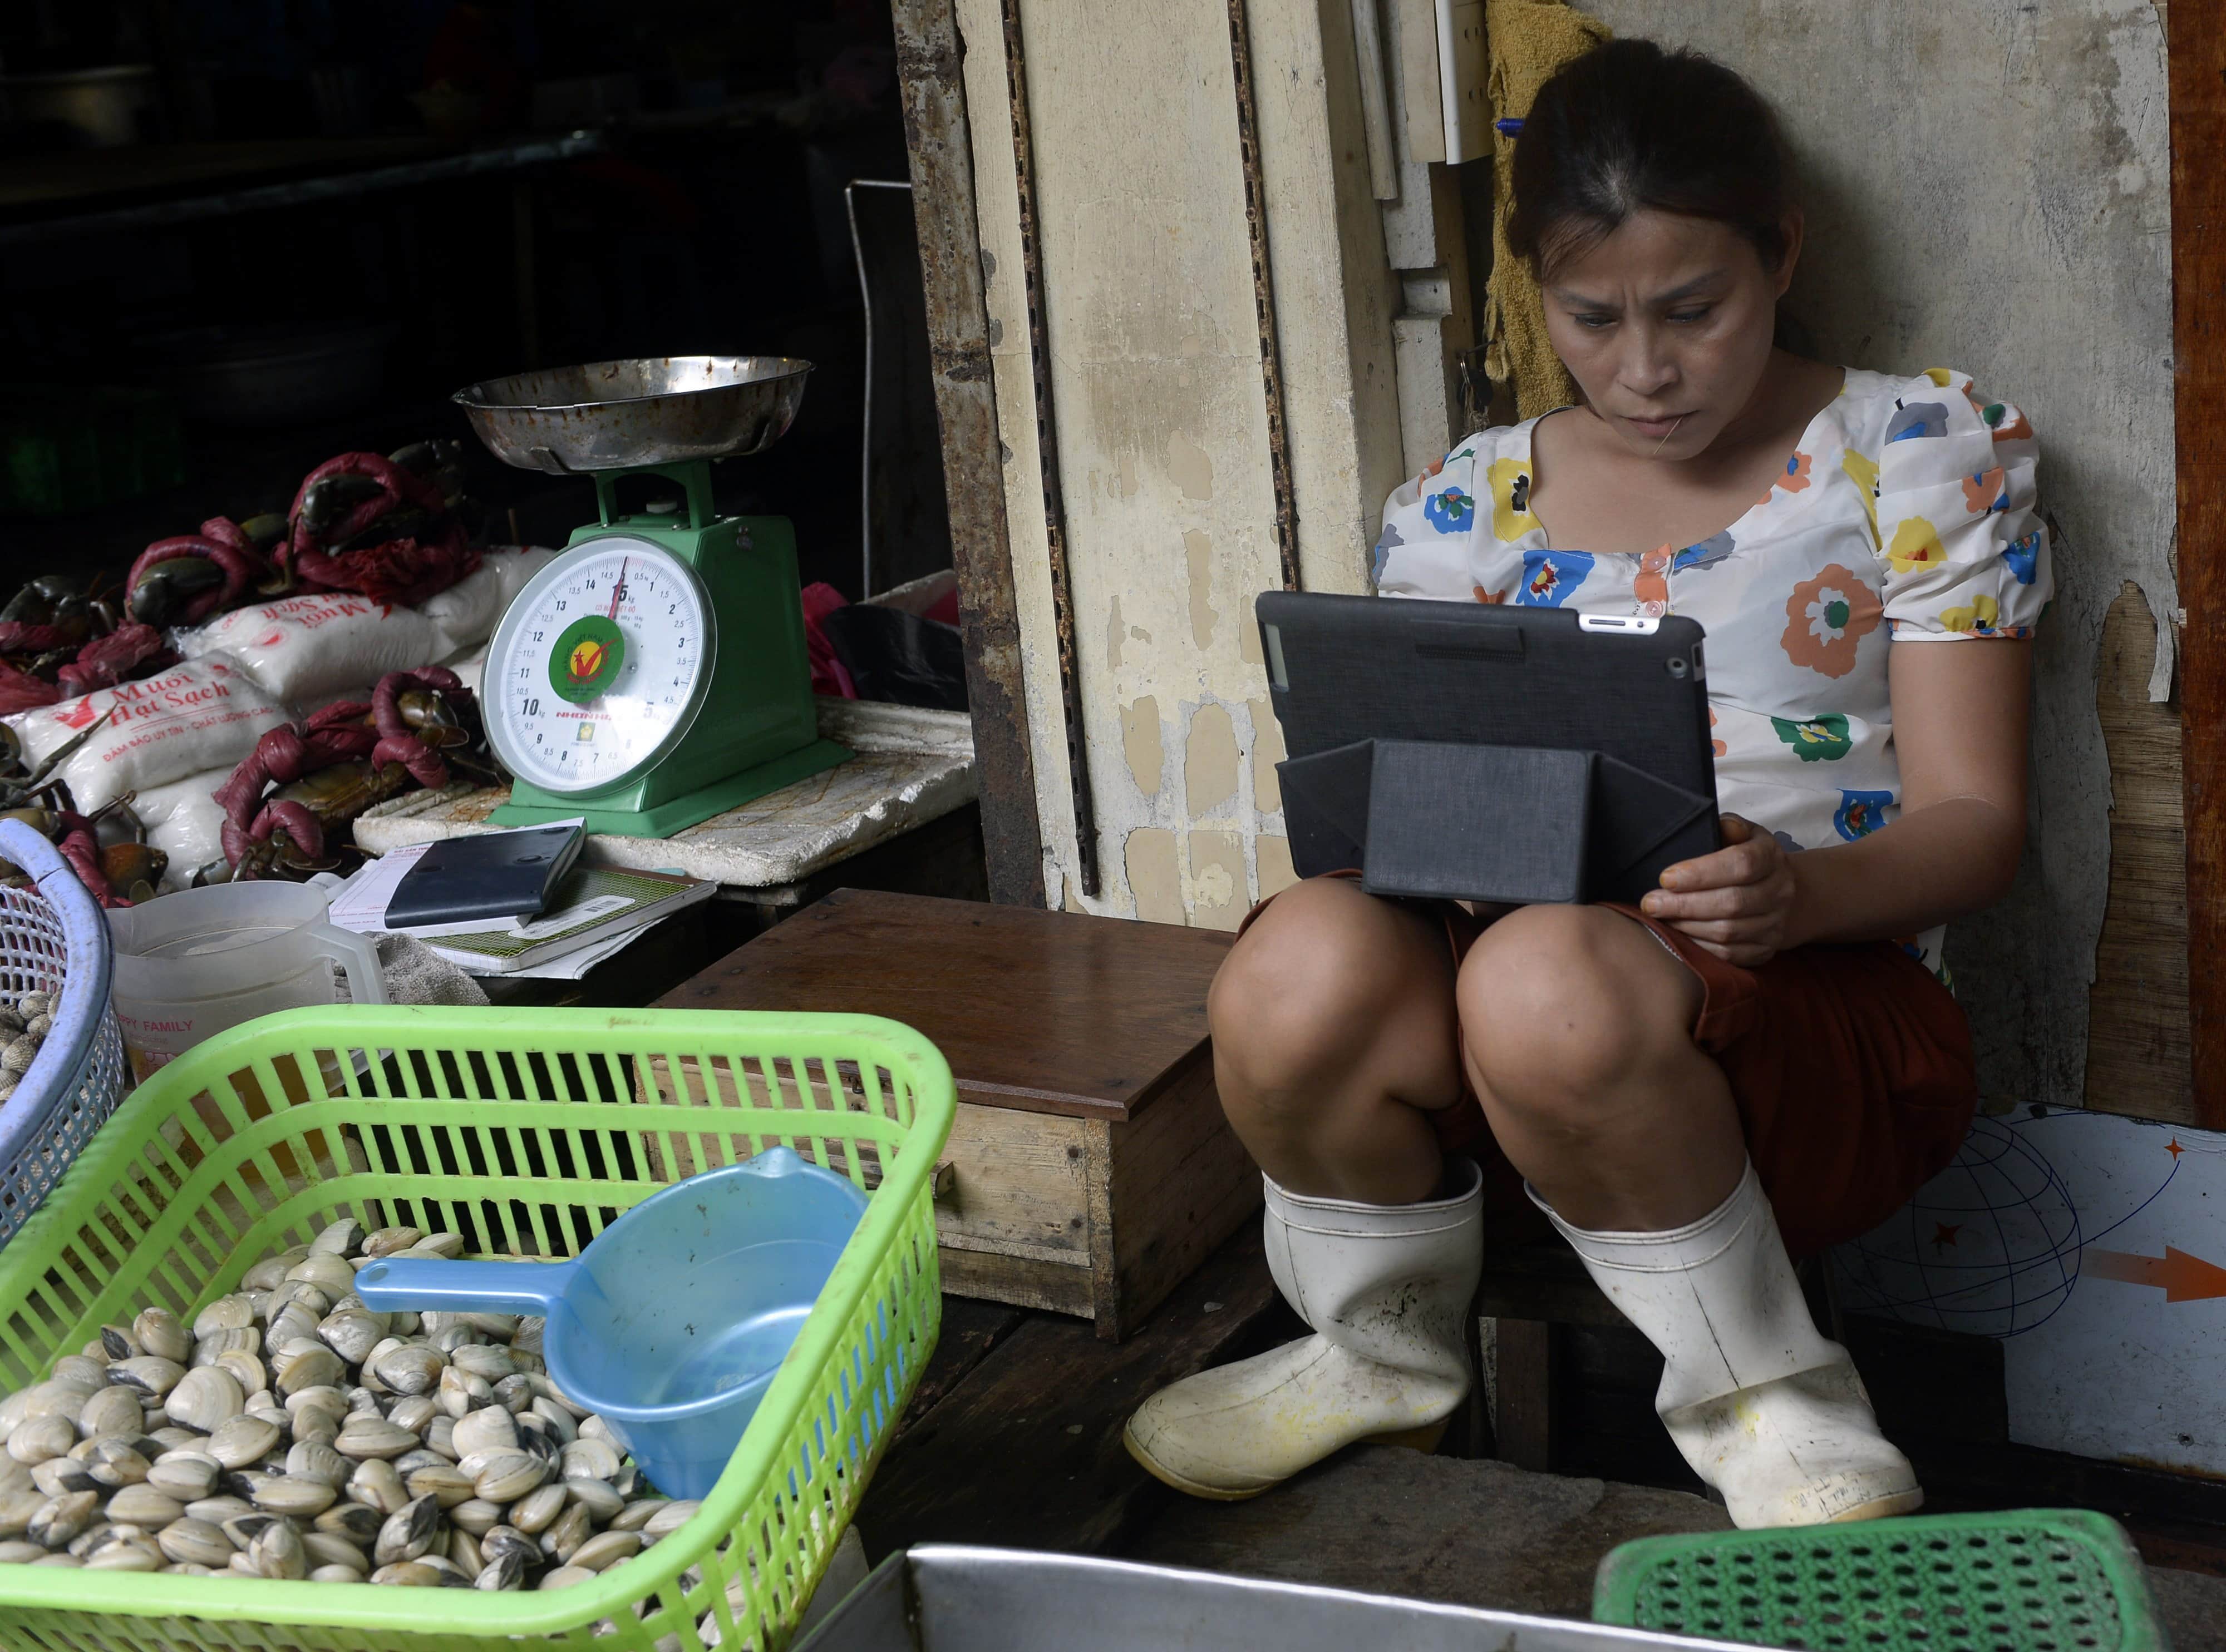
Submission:
POLYGON ((398 330, 385 321, 191 327, 147 341, 187 419, 292 425, 376 401, 398 330))

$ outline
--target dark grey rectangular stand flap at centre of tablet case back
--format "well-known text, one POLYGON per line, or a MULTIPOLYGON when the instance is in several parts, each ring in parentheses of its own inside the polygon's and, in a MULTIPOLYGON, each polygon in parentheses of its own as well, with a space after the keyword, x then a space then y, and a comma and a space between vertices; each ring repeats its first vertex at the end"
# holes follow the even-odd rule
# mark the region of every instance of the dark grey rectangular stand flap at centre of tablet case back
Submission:
POLYGON ((1371 744, 1365 891, 1509 904, 1585 899, 1592 753, 1371 744))

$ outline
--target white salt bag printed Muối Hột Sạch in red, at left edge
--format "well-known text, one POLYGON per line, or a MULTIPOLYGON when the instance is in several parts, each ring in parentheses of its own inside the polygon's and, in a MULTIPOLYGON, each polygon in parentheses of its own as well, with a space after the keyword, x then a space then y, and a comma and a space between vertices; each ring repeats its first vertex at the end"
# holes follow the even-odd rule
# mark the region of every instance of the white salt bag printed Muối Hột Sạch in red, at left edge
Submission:
POLYGON ((229 655, 203 655, 136 684, 7 719, 33 768, 100 724, 56 770, 85 815, 125 793, 151 793, 211 768, 229 770, 283 721, 285 708, 229 655), (102 715, 109 715, 105 724, 102 715))

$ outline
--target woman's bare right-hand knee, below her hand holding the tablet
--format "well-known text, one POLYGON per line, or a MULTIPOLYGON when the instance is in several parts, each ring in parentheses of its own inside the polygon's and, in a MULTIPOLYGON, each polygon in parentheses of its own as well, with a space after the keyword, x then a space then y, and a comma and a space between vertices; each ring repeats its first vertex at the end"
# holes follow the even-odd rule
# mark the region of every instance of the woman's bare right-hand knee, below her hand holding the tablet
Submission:
POLYGON ((1694 995, 1643 926, 1598 906, 1509 913, 1469 951, 1456 989, 1478 1086, 1569 1122, 1692 1051, 1694 995))

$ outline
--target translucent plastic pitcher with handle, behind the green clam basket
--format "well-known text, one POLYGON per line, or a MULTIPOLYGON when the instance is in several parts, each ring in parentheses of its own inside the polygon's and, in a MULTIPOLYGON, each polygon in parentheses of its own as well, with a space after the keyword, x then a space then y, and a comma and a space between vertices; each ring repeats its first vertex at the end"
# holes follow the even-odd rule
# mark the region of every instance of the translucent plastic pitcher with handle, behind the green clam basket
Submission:
POLYGON ((147 1075, 227 1026, 280 1009, 332 1006, 332 971, 356 1004, 385 1004, 378 948, 325 922, 309 884, 183 888, 109 913, 116 1020, 131 1075, 147 1075))

